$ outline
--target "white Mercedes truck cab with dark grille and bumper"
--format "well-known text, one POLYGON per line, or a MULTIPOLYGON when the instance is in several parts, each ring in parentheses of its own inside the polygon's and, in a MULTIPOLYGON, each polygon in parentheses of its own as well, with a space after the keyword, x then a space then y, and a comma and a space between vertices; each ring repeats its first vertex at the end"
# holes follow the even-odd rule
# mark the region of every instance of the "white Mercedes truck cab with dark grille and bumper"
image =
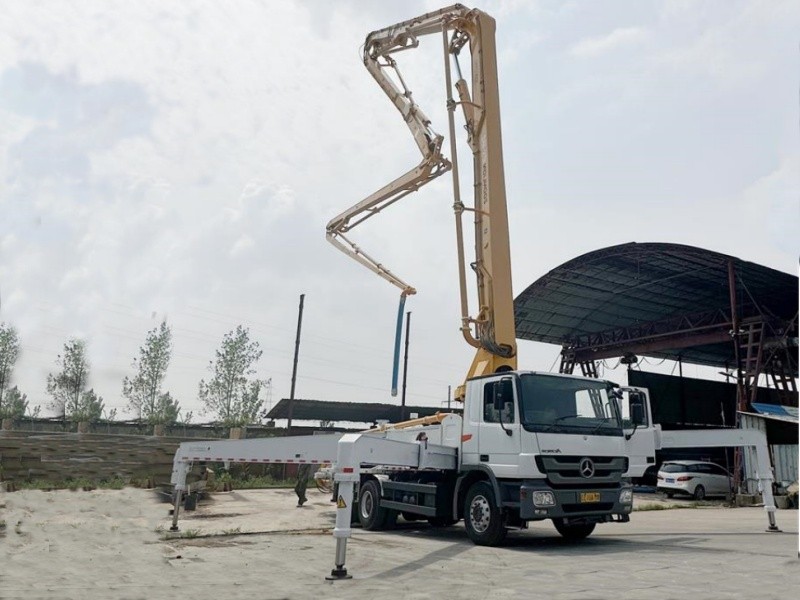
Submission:
MULTIPOLYGON (((509 526, 552 519, 562 535, 627 521, 632 490, 614 384, 535 371, 467 382, 458 508, 463 489, 491 482, 509 526), (480 475, 478 475, 480 474, 480 475)), ((463 506, 470 537, 471 508, 463 506)))

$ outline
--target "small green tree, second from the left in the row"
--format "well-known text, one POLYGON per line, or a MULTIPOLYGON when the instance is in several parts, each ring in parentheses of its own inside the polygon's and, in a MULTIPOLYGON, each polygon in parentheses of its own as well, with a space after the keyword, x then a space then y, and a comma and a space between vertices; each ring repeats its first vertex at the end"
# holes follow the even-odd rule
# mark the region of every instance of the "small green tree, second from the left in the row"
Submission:
POLYGON ((67 340, 56 364, 61 370, 47 376, 47 393, 53 397, 48 407, 65 418, 82 415, 86 412, 82 410, 86 402, 83 396, 89 379, 86 342, 76 338, 67 340))

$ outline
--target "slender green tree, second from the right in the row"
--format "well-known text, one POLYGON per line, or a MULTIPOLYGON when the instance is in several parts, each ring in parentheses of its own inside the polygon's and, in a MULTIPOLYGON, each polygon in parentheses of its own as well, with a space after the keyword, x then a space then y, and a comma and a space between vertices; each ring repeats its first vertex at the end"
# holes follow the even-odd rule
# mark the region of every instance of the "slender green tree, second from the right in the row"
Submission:
POLYGON ((122 380, 122 394, 128 399, 128 410, 139 420, 155 425, 174 423, 178 402, 169 393, 161 391, 164 377, 172 357, 172 329, 166 321, 147 332, 144 346, 139 348, 139 358, 133 359, 137 373, 122 380))

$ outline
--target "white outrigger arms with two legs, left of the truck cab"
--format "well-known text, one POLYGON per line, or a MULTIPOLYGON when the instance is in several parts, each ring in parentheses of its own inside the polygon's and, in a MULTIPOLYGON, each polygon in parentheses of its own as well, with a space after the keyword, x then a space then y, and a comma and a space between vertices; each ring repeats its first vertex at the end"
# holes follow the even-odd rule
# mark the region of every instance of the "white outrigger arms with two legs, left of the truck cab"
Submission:
MULTIPOLYGON (((460 425, 460 417, 449 415, 447 419, 451 429, 460 425)), ((430 429, 444 431, 446 428, 430 429)), ((405 435, 410 433, 412 432, 406 431, 405 435)), ((348 578, 344 564, 347 538, 351 533, 353 484, 360 480, 361 467, 381 465, 416 469, 458 468, 457 447, 396 439, 400 435, 395 430, 386 430, 344 435, 184 442, 178 446, 173 461, 175 505, 171 529, 178 530, 181 496, 186 490, 186 476, 193 462, 335 463, 334 481, 339 485, 336 526, 333 530, 336 538, 336 566, 331 571, 330 578, 348 578)), ((438 436, 439 439, 442 435, 438 436)))

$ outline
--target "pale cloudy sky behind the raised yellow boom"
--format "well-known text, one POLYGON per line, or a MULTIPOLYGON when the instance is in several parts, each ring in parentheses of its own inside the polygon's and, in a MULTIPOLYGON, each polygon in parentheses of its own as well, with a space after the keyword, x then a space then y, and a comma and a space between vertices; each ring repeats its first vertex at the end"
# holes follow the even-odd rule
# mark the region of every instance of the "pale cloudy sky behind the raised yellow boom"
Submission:
MULTIPOLYGON (((166 319, 164 389, 193 422, 213 419, 198 382, 239 324, 263 349, 274 405, 289 396, 301 294, 295 396, 399 403, 398 290, 328 244, 325 225, 419 161, 361 62, 366 34, 441 6, 0 0, 0 321, 19 333, 29 403, 52 414, 47 374, 80 337, 90 386, 131 418, 122 379, 166 319)), ((800 3, 479 8, 497 19, 515 294, 633 241, 797 273, 800 3)), ((446 134, 441 39, 397 59, 446 134)), ((447 175, 353 233, 418 290, 409 405, 446 405, 473 355, 451 206, 447 175)), ((557 370, 558 353, 520 342, 520 367, 557 370)))

